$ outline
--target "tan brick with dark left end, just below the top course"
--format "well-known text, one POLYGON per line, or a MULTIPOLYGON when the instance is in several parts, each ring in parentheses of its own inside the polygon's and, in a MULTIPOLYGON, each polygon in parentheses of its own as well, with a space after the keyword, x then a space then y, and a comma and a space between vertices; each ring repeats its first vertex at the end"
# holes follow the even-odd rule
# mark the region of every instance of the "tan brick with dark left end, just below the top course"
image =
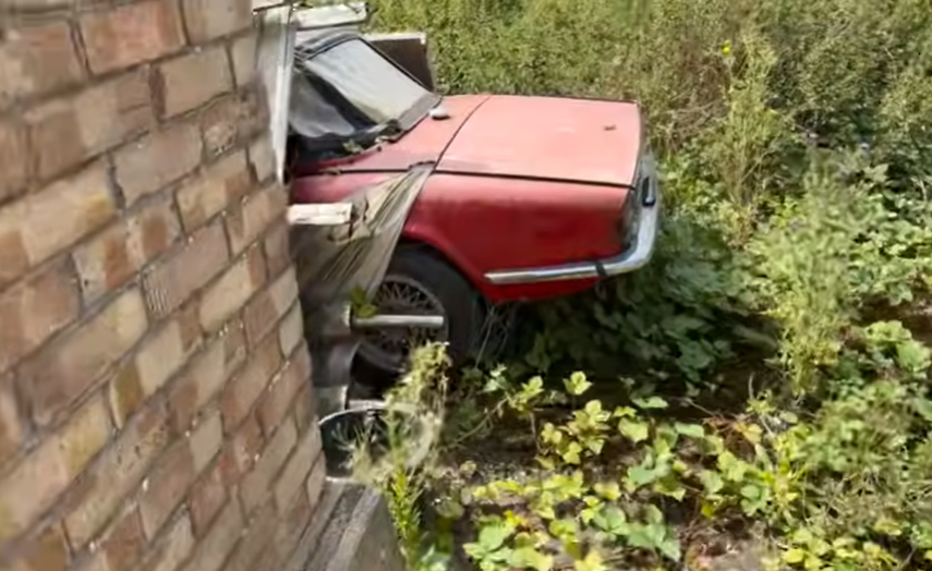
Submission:
POLYGON ((191 111, 232 88, 230 65, 222 47, 195 50, 159 65, 156 85, 159 114, 191 111))

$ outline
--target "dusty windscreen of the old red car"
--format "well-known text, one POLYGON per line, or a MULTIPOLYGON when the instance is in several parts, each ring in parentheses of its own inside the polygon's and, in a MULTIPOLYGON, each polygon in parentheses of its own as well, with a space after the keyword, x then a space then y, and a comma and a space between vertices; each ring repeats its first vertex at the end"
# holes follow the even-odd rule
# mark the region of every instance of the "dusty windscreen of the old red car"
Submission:
POLYGON ((346 141, 391 125, 409 129, 436 96, 359 38, 295 48, 289 122, 300 135, 346 141))

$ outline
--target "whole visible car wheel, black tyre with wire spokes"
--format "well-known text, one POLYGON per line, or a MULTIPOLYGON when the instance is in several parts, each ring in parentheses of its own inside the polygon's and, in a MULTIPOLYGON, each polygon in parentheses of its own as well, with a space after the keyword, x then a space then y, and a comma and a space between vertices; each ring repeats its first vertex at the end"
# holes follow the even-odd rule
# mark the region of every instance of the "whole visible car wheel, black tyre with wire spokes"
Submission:
POLYGON ((446 342, 455 364, 472 353, 485 323, 485 302, 446 262, 416 246, 399 246, 373 300, 380 313, 438 315, 440 329, 399 328, 363 333, 359 357, 383 373, 404 370, 413 348, 446 342))

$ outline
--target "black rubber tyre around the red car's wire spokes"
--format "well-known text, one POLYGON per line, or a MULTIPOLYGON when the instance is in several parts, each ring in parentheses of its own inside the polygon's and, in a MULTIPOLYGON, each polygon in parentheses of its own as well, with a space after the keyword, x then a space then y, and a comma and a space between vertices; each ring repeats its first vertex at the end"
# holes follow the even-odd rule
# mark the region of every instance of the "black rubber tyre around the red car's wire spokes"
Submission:
MULTIPOLYGON (((455 365, 462 364, 471 356, 485 320, 485 304, 459 271, 434 252, 406 244, 396 250, 375 297, 375 304, 387 312, 406 311, 394 300, 389 300, 389 305, 383 305, 388 295, 385 292, 391 288, 404 288, 422 295, 428 300, 427 305, 438 306, 443 311, 445 328, 426 340, 446 341, 447 352, 455 365)), ((414 305, 411 304, 412 307, 414 305)), ((360 345, 356 355, 363 362, 363 367, 383 374, 403 372, 408 366, 407 353, 398 353, 398 359, 389 363, 385 354, 379 354, 388 351, 376 350, 378 336, 378 332, 367 336, 360 345)))

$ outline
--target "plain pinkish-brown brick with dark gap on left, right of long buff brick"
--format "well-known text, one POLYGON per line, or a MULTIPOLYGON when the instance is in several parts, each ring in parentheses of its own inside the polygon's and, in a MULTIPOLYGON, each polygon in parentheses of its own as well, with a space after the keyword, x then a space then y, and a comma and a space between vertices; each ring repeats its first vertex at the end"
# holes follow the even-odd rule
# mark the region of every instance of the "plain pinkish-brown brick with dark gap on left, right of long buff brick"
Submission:
POLYGON ((117 184, 126 204, 152 194, 193 171, 201 163, 201 136, 181 123, 128 145, 113 157, 117 184))

